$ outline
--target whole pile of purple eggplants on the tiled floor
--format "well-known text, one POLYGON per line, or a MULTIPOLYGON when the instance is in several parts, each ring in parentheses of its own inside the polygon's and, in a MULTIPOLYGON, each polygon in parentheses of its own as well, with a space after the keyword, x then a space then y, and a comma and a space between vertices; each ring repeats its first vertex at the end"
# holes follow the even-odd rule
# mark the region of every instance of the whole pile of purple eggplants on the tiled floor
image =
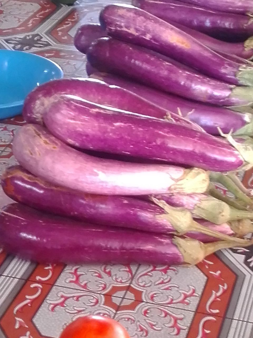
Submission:
POLYGON ((101 25, 78 29, 90 77, 50 81, 25 100, 19 165, 1 178, 13 200, 0 212, 7 252, 170 265, 252 244, 251 192, 234 175, 253 166, 253 29, 243 24, 252 8, 229 1, 219 13, 212 0, 108 5, 101 25), (228 34, 247 40, 219 40, 234 17, 228 34))

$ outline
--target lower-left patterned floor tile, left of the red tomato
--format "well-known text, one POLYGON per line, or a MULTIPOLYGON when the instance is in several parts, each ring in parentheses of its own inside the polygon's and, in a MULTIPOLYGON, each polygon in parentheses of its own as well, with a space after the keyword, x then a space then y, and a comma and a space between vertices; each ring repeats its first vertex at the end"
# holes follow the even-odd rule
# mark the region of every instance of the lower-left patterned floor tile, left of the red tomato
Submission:
MULTIPOLYGON (((6 306, 4 302, 4 311, 0 305, 3 313, 0 328, 7 338, 58 338, 65 325, 78 317, 88 314, 114 317, 116 312, 110 306, 108 295, 53 286, 41 281, 22 281, 2 276, 0 294, 1 288, 8 291, 4 294, 8 303, 6 306)), ((0 297, 0 304, 1 301, 0 297)))

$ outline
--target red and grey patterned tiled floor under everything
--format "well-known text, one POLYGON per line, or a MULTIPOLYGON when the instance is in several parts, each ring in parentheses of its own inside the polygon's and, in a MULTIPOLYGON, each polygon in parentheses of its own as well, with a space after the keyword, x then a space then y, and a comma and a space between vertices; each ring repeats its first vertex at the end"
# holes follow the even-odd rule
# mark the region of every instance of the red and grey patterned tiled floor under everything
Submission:
MULTIPOLYGON (((66 77, 85 76, 73 36, 111 2, 0 0, 0 48, 51 58, 66 77)), ((16 163, 11 142, 22 124, 21 117, 0 123, 0 175, 16 163)), ((253 188, 252 172, 244 183, 253 188)), ((9 202, 0 190, 0 207, 9 202)), ((250 338, 252 308, 252 248, 224 250, 192 268, 36 265, 0 252, 0 338, 57 338, 91 313, 115 318, 133 338, 250 338)))

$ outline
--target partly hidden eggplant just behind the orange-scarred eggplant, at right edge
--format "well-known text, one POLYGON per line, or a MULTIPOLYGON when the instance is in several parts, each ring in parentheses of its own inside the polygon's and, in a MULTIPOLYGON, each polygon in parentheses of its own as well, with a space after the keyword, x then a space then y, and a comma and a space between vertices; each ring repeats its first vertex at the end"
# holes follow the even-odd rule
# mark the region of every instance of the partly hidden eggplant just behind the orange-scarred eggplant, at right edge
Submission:
MULTIPOLYGON (((206 35, 204 33, 201 33, 195 29, 189 28, 187 26, 181 25, 176 22, 169 21, 169 23, 178 29, 182 30, 183 32, 191 35, 194 39, 198 40, 200 43, 202 43, 204 46, 209 47, 210 49, 215 50, 218 54, 221 54, 224 57, 229 57, 230 54, 237 55, 244 59, 250 59, 253 56, 253 39, 252 37, 246 40, 244 43, 238 42, 238 43, 231 43, 231 42, 225 42, 220 41, 218 39, 215 39, 213 37, 210 37, 209 35, 206 35)), ((95 40, 95 39, 94 39, 95 40)), ((233 61, 239 63, 240 60, 233 59, 233 61)))

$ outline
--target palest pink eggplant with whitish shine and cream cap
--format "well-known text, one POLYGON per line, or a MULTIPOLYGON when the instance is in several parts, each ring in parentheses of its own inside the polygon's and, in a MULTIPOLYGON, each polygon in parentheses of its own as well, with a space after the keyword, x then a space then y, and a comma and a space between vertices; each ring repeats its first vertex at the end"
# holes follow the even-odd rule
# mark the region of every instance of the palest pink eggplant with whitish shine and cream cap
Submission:
POLYGON ((17 132, 13 154, 32 174, 93 194, 202 193, 209 184, 208 172, 198 168, 96 158, 65 145, 46 128, 35 124, 27 124, 17 132))

